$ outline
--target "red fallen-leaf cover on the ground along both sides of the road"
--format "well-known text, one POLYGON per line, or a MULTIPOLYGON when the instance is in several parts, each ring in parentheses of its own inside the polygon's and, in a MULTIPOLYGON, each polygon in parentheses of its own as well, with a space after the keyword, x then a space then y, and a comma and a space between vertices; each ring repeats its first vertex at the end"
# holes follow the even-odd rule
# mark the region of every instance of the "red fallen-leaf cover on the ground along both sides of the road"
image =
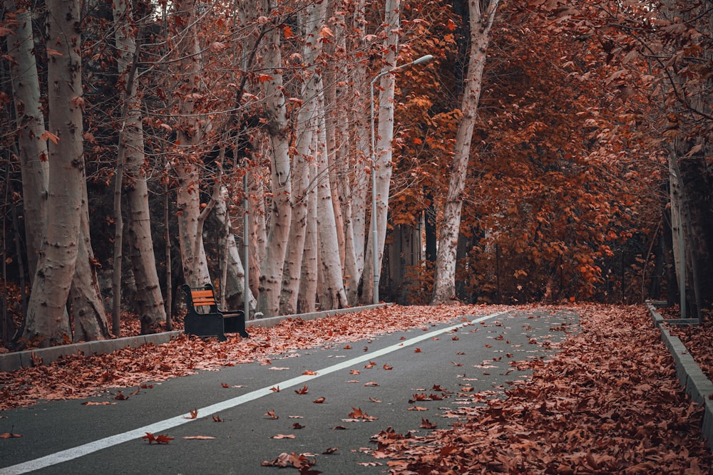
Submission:
MULTIPOLYGON (((568 333, 550 360, 516 362, 534 374, 507 389, 505 400, 483 397, 482 404, 463 407, 461 419, 451 427, 434 429, 426 437, 383 428, 372 437, 374 457, 390 473, 403 475, 713 473, 713 456, 700 440, 703 409, 680 387, 672 356, 647 308, 568 308, 580 315, 578 331, 568 333)), ((66 357, 48 366, 0 373, 0 417, 3 409, 39 400, 79 399, 108 387, 140 387, 198 370, 264 361, 294 348, 356 341, 503 309, 508 308, 389 306, 287 320, 255 328, 250 339, 226 343, 181 335, 158 347, 66 357)), ((710 375, 713 327, 674 331, 710 375)))

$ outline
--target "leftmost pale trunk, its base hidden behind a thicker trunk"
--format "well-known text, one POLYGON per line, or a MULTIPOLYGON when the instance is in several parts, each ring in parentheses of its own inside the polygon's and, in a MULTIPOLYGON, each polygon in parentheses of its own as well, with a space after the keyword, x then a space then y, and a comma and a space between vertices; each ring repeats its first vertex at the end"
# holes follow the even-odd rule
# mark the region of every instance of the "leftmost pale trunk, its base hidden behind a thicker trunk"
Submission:
POLYGON ((44 137, 40 84, 34 56, 32 13, 29 9, 16 9, 14 0, 5 0, 5 10, 6 14, 16 14, 16 25, 11 28, 14 33, 7 34, 7 51, 13 58, 9 65, 18 127, 16 136, 22 173, 27 266, 33 278, 47 218, 47 139, 44 137))

